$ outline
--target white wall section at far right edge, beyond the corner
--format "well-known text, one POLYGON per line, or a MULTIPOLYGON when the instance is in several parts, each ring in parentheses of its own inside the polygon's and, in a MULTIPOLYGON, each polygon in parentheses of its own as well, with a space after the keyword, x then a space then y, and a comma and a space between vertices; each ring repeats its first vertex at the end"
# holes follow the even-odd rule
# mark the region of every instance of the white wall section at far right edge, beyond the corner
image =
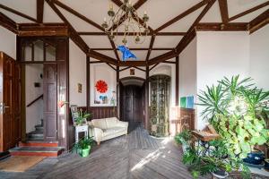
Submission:
POLYGON ((250 76, 259 88, 269 90, 269 25, 250 35, 250 76))

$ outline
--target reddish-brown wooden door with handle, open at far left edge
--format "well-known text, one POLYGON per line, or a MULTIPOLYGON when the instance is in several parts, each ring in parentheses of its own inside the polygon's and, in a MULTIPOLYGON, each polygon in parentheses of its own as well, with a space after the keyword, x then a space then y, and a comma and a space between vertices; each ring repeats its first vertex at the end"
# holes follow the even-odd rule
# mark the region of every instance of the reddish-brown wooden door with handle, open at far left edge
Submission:
POLYGON ((21 140, 21 67, 0 52, 0 152, 21 140))

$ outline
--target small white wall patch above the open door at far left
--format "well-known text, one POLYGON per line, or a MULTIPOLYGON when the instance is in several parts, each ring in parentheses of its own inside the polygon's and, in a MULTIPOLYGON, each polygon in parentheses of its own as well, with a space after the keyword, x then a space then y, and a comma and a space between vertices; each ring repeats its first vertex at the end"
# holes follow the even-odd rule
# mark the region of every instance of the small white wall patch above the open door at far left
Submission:
POLYGON ((0 26, 0 51, 16 59, 16 35, 0 26))

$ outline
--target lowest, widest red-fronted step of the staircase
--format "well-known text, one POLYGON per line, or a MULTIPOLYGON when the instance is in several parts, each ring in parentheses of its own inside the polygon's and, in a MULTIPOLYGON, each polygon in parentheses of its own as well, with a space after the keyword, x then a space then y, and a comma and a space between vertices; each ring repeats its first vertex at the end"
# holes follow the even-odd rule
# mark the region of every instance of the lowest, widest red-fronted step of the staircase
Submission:
POLYGON ((9 149, 12 156, 44 156, 57 157, 64 151, 60 147, 17 147, 9 149))

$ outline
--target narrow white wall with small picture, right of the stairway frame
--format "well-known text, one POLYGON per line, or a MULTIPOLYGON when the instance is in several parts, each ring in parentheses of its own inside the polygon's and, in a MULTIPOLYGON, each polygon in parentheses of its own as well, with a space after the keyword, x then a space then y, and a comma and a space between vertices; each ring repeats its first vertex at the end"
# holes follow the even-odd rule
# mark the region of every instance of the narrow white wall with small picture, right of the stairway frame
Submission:
POLYGON ((86 55, 69 40, 69 98, 70 105, 86 107, 86 55), (82 84, 82 93, 78 92, 78 83, 82 84))

